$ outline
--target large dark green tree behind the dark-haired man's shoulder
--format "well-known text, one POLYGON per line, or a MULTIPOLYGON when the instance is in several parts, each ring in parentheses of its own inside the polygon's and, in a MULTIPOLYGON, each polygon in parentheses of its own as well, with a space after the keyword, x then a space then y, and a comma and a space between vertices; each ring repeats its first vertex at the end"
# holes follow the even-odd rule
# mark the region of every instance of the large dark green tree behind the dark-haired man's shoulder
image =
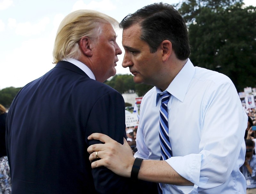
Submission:
POLYGON ((242 0, 187 0, 179 11, 195 66, 227 75, 238 92, 256 86, 256 7, 242 0))

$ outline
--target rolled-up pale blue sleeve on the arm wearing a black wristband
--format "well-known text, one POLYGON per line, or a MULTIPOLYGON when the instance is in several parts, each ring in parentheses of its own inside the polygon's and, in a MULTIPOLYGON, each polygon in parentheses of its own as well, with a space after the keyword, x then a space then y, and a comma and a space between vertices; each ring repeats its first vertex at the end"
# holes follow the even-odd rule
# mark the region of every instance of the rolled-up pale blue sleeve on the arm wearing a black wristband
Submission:
POLYGON ((222 185, 242 166, 248 119, 232 83, 210 88, 202 103, 200 152, 166 160, 197 191, 222 185))

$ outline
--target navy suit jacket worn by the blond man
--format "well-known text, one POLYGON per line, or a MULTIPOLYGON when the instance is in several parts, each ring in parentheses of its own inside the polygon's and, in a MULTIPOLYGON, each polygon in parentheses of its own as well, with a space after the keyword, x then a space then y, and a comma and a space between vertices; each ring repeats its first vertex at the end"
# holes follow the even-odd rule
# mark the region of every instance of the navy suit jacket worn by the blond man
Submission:
POLYGON ((95 132, 123 144, 124 99, 115 89, 67 61, 28 83, 7 115, 12 194, 124 194, 136 193, 135 184, 138 193, 152 191, 151 183, 91 168, 87 148, 99 141, 87 137, 95 132))

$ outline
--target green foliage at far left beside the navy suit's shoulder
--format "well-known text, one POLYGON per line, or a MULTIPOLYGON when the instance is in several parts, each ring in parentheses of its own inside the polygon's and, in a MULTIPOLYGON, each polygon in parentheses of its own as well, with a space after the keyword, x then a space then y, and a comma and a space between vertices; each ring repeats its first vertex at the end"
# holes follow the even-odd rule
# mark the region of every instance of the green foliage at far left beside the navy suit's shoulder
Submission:
POLYGON ((9 87, 0 90, 0 104, 2 104, 5 108, 9 108, 20 89, 21 88, 9 87))

